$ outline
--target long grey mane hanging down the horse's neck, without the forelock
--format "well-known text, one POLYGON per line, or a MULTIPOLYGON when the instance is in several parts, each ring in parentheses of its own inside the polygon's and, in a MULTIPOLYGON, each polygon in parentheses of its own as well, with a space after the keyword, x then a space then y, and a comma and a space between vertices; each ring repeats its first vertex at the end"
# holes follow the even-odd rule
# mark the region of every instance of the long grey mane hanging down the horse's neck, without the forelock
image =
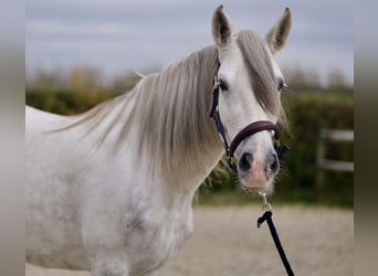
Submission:
MULTIPOLYGON (((207 151, 220 146, 209 118, 218 68, 218 50, 209 46, 147 76, 137 88, 129 118, 139 124, 140 152, 148 150, 153 166, 160 164, 162 172, 200 168, 207 151)), ((118 144, 127 129, 125 124, 118 144)))

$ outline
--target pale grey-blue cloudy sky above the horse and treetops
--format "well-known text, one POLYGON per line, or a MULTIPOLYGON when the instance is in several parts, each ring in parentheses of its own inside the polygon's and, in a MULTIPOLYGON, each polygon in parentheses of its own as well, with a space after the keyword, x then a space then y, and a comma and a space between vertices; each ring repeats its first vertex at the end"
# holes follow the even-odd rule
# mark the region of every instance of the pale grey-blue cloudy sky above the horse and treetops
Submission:
POLYGON ((213 44, 211 17, 223 4, 235 32, 264 36, 285 7, 293 14, 283 68, 345 73, 354 83, 351 0, 25 0, 27 75, 39 68, 99 68, 113 77, 166 66, 213 44))

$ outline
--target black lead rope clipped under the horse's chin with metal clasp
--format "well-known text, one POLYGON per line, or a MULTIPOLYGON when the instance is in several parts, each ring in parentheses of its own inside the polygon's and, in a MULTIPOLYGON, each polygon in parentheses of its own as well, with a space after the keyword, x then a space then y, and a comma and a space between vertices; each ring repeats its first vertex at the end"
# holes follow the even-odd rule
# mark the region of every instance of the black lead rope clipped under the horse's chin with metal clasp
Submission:
POLYGON ((261 224, 264 223, 266 221, 267 223, 267 226, 269 226, 269 230, 271 231, 271 235, 273 237, 273 241, 274 241, 274 244, 275 244, 275 247, 277 248, 279 251, 279 254, 280 254, 280 257, 281 257, 281 261, 286 269, 286 273, 288 276, 294 276, 294 273, 293 273, 293 269, 288 263, 288 259, 285 255, 285 252, 282 247, 282 244, 281 244, 281 241, 280 241, 280 237, 279 237, 279 234, 277 234, 277 231, 275 230, 274 227, 274 223, 273 223, 273 219, 272 219, 272 208, 271 205, 266 202, 266 197, 265 194, 262 194, 263 199, 264 199, 264 210, 267 209, 267 211, 264 212, 264 214, 262 216, 259 217, 258 220, 258 229, 260 229, 261 224))

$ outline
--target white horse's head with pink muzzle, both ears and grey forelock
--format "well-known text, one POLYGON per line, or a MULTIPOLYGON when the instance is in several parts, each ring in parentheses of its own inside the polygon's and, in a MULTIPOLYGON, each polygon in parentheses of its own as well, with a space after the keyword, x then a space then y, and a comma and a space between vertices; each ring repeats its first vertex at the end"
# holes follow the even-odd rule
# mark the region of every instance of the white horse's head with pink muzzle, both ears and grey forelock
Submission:
POLYGON ((212 17, 212 36, 220 62, 219 116, 228 139, 234 140, 253 123, 272 123, 242 137, 234 149, 241 185, 249 191, 270 192, 280 169, 273 137, 274 126, 283 116, 280 93, 285 83, 273 54, 284 46, 291 22, 286 8, 265 39, 261 39, 252 31, 234 35, 222 6, 212 17))

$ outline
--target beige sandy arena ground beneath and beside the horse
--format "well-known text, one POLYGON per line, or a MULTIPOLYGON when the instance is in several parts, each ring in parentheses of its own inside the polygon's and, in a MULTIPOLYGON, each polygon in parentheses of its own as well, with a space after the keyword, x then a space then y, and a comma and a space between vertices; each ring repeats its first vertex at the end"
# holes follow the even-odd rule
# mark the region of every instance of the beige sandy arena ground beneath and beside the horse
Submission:
MULTIPOLYGON (((323 208, 275 208, 273 219, 295 275, 354 275, 354 213, 323 208)), ((196 208, 195 233, 161 276, 282 276, 267 225, 256 229, 258 205, 196 208)), ((90 276, 27 265, 25 276, 90 276)))

